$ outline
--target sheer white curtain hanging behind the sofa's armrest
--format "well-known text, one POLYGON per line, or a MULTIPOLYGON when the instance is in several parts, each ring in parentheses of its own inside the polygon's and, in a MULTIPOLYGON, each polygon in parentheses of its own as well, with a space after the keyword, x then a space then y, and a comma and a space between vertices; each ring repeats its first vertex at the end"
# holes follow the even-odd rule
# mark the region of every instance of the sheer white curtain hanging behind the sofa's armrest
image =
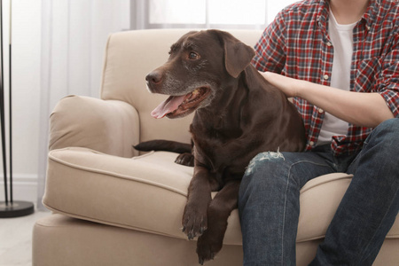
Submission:
POLYGON ((129 0, 42 0, 39 209, 51 110, 70 94, 98 98, 107 36, 129 29, 129 6, 129 0))

